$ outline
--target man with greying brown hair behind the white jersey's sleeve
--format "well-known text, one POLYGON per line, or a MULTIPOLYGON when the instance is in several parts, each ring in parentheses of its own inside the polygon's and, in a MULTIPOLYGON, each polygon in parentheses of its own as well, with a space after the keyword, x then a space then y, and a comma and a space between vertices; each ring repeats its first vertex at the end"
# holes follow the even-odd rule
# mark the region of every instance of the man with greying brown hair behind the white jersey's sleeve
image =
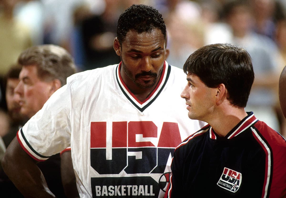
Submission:
MULTIPOLYGON (((68 76, 76 73, 72 56, 57 45, 37 45, 23 51, 18 63, 22 66, 19 84, 14 92, 18 96, 20 113, 31 118, 60 87, 68 76)), ((53 122, 53 120, 50 120, 53 122)), ((55 120, 56 121, 56 120, 55 120)), ((45 133, 45 131, 42 131, 45 133)), ((61 183, 60 155, 38 163, 47 185, 57 197, 65 197, 61 183)))

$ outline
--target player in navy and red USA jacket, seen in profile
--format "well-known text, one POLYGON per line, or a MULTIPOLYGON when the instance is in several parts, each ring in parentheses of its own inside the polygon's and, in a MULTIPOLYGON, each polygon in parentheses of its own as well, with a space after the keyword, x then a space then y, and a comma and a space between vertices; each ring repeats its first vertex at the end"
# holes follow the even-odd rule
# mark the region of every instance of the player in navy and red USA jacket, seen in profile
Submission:
POLYGON ((286 141, 244 110, 254 80, 248 52, 206 45, 184 72, 188 117, 208 125, 176 148, 165 197, 286 197, 286 141))

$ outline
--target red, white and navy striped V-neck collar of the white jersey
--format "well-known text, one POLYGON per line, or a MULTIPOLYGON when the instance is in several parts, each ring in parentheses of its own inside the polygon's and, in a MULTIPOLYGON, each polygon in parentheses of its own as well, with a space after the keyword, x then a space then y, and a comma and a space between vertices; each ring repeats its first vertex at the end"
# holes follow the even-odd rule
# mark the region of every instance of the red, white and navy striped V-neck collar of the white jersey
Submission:
POLYGON ((162 92, 163 88, 165 87, 168 78, 170 76, 171 72, 171 66, 168 65, 168 63, 165 61, 163 65, 163 71, 160 76, 159 82, 154 88, 154 90, 149 94, 149 96, 144 100, 140 101, 136 96, 131 92, 131 90, 127 87, 125 82, 122 80, 122 77, 120 75, 120 68, 121 68, 122 62, 118 64, 116 67, 116 80, 118 82, 118 85, 123 92, 123 94, 126 96, 126 98, 141 112, 143 112, 148 106, 154 102, 154 100, 159 96, 159 94, 162 92))

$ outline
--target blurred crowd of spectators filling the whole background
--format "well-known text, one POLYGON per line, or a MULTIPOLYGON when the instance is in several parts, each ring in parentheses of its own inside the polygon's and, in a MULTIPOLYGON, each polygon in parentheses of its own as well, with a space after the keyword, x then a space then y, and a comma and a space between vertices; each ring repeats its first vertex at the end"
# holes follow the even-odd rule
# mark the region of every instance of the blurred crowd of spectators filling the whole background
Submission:
POLYGON ((117 20, 134 3, 162 13, 171 65, 182 68, 192 52, 211 43, 245 47, 255 71, 246 110, 286 136, 278 101, 279 75, 286 65, 286 0, 0 0, 0 136, 10 123, 5 77, 23 50, 60 45, 72 54, 78 72, 117 64, 117 20))

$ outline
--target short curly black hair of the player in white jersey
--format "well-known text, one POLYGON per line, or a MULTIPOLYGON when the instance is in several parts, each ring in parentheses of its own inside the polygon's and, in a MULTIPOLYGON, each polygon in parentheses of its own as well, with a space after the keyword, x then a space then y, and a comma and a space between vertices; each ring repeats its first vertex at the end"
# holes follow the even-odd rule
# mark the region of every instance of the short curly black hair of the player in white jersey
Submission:
POLYGON ((142 33, 151 32, 155 28, 160 29, 166 39, 166 24, 162 14, 151 6, 134 4, 127 8, 118 19, 117 39, 122 44, 130 30, 142 33))

